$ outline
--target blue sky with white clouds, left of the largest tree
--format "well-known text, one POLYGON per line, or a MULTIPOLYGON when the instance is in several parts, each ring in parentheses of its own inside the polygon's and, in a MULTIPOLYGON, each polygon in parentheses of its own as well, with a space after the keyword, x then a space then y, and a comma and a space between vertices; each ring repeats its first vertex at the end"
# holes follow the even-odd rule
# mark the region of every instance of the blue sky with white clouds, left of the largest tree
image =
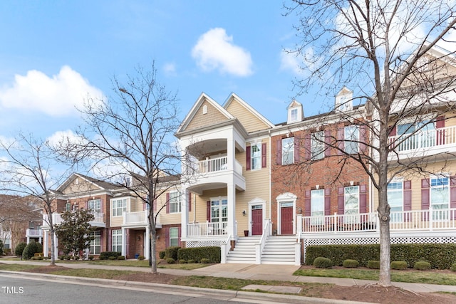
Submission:
MULTIPOLYGON (((0 136, 50 137, 80 123, 87 94, 110 95, 155 61, 183 118, 204 92, 237 93, 271 122, 294 97, 293 17, 281 1, 1 1, 0 136)), ((306 97, 305 115, 321 111, 306 97)), ((322 109, 326 110, 326 108, 322 109)))

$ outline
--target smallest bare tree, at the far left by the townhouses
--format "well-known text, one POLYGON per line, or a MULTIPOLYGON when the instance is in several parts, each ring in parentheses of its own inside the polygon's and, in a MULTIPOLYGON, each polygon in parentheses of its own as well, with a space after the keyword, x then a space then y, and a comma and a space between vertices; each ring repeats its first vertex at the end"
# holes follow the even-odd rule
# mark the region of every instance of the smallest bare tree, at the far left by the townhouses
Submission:
POLYGON ((54 265, 52 214, 56 211, 57 195, 52 189, 66 174, 56 172, 56 157, 47 140, 20 134, 15 140, 0 141, 0 150, 6 153, 6 157, 0 159, 0 187, 6 193, 32 197, 44 209, 51 232, 51 265, 54 265))

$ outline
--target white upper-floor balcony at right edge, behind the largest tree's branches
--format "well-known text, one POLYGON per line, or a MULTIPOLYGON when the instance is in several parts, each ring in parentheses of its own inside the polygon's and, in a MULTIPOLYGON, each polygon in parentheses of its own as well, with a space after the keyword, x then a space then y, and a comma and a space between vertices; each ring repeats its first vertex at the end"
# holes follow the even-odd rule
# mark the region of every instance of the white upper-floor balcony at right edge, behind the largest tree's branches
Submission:
MULTIPOLYGON (((434 130, 418 131, 413 135, 397 135, 388 137, 388 143, 395 147, 395 152, 413 157, 425 154, 445 152, 449 147, 456 146, 456 126, 442 127, 434 130)), ((390 157, 393 153, 390 154, 390 157)))

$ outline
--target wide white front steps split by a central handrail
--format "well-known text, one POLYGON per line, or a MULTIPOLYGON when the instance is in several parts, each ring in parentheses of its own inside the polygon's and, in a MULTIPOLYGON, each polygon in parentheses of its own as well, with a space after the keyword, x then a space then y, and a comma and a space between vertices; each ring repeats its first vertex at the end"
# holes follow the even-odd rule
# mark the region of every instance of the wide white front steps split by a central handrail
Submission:
MULTIPOLYGON (((229 251, 227 263, 256 263, 256 244, 260 236, 239 238, 233 251, 229 251)), ((296 236, 268 236, 261 253, 261 263, 294 265, 296 236)))

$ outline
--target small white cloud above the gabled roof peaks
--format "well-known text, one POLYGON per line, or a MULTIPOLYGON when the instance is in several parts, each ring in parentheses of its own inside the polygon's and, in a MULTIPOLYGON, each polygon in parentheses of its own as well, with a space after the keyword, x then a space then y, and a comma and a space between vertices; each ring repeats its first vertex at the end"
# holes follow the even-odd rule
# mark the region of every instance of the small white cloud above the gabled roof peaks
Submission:
POLYGON ((233 43, 224 28, 212 28, 199 36, 192 57, 204 71, 219 70, 236 76, 253 74, 250 53, 233 43))

